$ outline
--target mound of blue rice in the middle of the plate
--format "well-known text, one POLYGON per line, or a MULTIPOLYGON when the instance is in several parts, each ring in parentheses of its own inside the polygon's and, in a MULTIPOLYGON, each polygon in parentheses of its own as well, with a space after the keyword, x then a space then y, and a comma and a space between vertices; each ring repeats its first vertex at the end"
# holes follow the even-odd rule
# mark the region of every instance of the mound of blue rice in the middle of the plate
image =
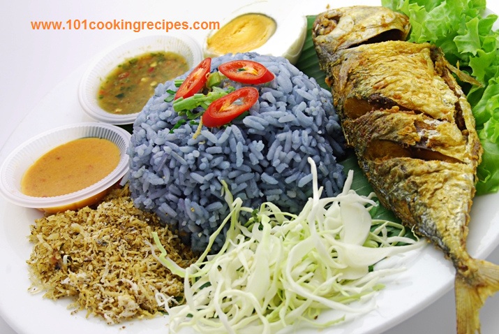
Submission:
MULTIPOLYGON (((276 75, 255 86, 260 98, 246 117, 221 128, 203 126, 197 137, 198 125, 190 122, 171 131, 184 118, 165 102, 167 91, 177 90, 172 80, 156 87, 133 124, 128 150, 133 201, 177 228, 195 252, 206 249, 229 213, 222 180, 245 206, 271 201, 292 213, 301 211, 312 194, 308 157, 318 168, 323 196, 338 194, 345 180, 335 158, 344 153, 344 138, 331 93, 282 57, 225 55, 212 59, 211 71, 233 59, 258 61, 276 75)), ((211 251, 224 241, 225 234, 218 235, 211 251)))

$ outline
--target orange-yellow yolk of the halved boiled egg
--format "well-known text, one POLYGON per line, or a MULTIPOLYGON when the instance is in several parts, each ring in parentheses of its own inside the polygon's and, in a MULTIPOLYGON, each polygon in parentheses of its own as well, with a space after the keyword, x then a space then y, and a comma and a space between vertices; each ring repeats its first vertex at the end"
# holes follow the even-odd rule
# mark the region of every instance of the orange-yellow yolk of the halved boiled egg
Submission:
POLYGON ((276 22, 267 15, 244 14, 235 17, 208 38, 208 48, 223 55, 248 52, 267 43, 276 31, 276 22))

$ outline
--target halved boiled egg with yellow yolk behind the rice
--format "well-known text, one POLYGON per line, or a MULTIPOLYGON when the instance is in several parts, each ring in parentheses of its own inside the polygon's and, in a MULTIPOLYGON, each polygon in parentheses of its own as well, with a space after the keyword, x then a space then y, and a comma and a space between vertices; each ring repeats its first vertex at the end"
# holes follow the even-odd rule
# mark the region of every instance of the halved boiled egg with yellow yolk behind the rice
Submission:
POLYGON ((295 64, 306 37, 306 17, 280 1, 251 3, 232 12, 204 41, 204 57, 258 52, 295 64))

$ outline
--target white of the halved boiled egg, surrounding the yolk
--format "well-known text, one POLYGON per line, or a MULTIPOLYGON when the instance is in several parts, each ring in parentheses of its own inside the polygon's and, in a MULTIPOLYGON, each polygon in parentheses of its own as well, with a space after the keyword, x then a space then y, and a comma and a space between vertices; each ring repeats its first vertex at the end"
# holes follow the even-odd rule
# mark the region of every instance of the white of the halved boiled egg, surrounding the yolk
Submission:
MULTIPOLYGON (((295 64, 301 54, 301 49, 306 38, 306 17, 301 15, 293 8, 282 8, 280 1, 274 3, 270 1, 259 1, 243 6, 230 13, 221 22, 221 27, 228 24, 244 14, 263 14, 271 17, 276 22, 276 31, 270 36, 269 40, 260 48, 255 48, 251 52, 257 52, 260 55, 285 57, 291 64, 295 64)), ((218 30, 212 30, 204 39, 203 52, 204 57, 219 57, 222 54, 211 50, 208 47, 208 39, 218 30)))

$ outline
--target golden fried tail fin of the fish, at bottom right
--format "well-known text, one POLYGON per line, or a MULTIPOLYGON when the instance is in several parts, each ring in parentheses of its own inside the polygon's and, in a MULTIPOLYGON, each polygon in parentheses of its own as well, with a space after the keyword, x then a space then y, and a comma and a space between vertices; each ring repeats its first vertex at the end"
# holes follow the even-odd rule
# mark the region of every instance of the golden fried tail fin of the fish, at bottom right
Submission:
POLYGON ((473 279, 456 274, 457 334, 480 333, 480 308, 487 298, 499 291, 499 266, 487 261, 475 261, 477 275, 473 279))

